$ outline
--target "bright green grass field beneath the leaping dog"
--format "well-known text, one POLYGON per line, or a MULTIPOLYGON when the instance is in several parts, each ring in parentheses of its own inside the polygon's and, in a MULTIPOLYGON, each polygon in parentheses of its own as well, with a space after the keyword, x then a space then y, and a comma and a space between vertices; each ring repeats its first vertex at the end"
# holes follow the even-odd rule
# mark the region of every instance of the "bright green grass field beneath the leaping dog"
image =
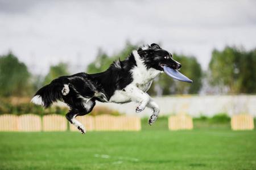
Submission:
MULTIPOLYGON (((256 169, 256 131, 0 133, 0 169, 256 169)), ((146 122, 143 120, 143 122, 146 122)))

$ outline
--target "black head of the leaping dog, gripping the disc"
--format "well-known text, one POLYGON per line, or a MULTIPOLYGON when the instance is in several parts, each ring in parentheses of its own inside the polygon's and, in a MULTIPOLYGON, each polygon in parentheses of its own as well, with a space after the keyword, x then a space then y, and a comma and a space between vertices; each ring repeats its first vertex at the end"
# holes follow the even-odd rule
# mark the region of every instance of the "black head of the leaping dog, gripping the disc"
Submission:
POLYGON ((158 44, 143 46, 138 49, 138 54, 148 69, 154 68, 163 71, 164 66, 174 70, 180 69, 181 67, 181 64, 172 58, 172 54, 160 48, 158 44))

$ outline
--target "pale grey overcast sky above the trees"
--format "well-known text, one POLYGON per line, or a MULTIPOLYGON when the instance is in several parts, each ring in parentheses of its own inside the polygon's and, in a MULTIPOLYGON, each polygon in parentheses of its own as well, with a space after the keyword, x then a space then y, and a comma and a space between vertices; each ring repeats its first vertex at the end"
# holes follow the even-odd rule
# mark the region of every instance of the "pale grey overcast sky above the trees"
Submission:
POLYGON ((213 48, 256 47, 256 1, 0 0, 0 55, 12 50, 36 74, 60 61, 84 71, 98 48, 113 54, 127 40, 160 42, 205 70, 213 48))

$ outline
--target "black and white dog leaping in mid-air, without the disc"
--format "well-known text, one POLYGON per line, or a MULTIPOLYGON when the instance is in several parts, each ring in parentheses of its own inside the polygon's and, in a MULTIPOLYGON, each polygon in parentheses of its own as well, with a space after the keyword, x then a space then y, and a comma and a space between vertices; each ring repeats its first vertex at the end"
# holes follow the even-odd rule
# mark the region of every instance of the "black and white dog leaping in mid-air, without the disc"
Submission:
POLYGON ((135 101, 138 103, 137 113, 145 107, 151 108, 153 113, 148 124, 152 125, 160 110, 146 92, 152 80, 163 73, 163 66, 175 70, 181 67, 179 62, 172 59, 171 53, 158 44, 145 45, 133 50, 125 60, 113 62, 102 73, 60 76, 40 88, 31 101, 46 108, 57 100, 64 101, 70 107, 66 114, 68 121, 82 134, 85 133, 85 128, 75 118, 90 113, 96 100, 113 103, 135 101))

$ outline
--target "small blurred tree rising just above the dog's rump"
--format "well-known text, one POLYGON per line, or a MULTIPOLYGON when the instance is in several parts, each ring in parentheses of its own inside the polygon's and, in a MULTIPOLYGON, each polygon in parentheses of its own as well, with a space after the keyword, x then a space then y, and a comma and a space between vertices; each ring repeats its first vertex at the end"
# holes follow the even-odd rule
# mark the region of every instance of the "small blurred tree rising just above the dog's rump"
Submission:
POLYGON ((51 83, 53 79, 58 78, 62 75, 68 75, 68 65, 66 63, 59 63, 55 66, 51 66, 49 69, 49 73, 44 78, 44 85, 51 83))

